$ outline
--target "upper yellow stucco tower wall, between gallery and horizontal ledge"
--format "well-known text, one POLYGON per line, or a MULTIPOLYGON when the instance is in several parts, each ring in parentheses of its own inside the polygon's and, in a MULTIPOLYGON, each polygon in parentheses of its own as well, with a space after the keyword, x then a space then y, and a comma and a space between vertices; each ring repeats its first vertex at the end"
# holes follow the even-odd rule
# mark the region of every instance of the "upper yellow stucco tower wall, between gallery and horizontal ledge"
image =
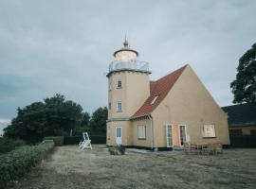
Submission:
POLYGON ((111 102, 110 118, 127 118, 132 116, 150 95, 149 76, 145 73, 121 71, 109 77, 111 90, 108 92, 108 101, 111 102), (117 88, 118 80, 122 87, 117 88), (117 102, 121 101, 122 111, 117 112, 117 102))

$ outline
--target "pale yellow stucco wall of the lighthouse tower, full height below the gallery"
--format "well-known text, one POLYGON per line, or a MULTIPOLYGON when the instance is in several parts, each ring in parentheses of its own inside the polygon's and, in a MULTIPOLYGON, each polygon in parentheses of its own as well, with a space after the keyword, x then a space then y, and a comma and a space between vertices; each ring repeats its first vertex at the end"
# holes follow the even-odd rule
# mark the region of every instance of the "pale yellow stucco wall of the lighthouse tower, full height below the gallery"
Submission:
MULTIPOLYGON (((108 91, 108 101, 111 109, 108 111, 107 132, 110 138, 107 139, 108 146, 116 146, 116 128, 121 127, 121 144, 123 146, 134 146, 135 129, 131 121, 116 121, 131 117, 150 95, 149 75, 146 73, 120 71, 110 75, 109 83, 111 90, 108 91), (122 87, 117 88, 118 80, 121 80, 122 87), (121 101, 122 111, 117 112, 117 102, 121 101)), ((136 143, 136 142, 135 142, 136 143)), ((138 142, 136 144, 145 144, 138 142)))

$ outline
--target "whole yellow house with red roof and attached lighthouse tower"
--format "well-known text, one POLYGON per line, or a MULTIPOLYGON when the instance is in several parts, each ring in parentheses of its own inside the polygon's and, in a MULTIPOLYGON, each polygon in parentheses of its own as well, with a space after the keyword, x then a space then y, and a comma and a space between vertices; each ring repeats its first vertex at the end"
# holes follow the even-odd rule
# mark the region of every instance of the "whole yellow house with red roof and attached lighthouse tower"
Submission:
POLYGON ((185 142, 229 145, 228 117, 187 64, 150 81, 149 63, 125 40, 108 77, 107 146, 152 149, 185 142))

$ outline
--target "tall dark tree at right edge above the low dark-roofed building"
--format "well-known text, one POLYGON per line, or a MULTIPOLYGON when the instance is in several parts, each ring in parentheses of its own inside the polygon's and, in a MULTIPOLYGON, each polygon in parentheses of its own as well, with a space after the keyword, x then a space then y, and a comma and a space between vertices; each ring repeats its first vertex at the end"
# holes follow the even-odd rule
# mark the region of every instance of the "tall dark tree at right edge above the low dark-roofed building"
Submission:
POLYGON ((256 104, 256 43, 240 58, 236 79, 230 83, 234 103, 256 104))

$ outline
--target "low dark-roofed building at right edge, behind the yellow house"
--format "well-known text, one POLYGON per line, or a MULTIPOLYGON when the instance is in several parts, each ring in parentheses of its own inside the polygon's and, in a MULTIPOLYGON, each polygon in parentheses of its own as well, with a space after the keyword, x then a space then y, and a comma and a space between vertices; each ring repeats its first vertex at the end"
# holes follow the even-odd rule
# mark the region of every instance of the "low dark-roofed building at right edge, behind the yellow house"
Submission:
POLYGON ((256 135, 256 106, 238 104, 222 107, 228 114, 229 134, 256 135))

